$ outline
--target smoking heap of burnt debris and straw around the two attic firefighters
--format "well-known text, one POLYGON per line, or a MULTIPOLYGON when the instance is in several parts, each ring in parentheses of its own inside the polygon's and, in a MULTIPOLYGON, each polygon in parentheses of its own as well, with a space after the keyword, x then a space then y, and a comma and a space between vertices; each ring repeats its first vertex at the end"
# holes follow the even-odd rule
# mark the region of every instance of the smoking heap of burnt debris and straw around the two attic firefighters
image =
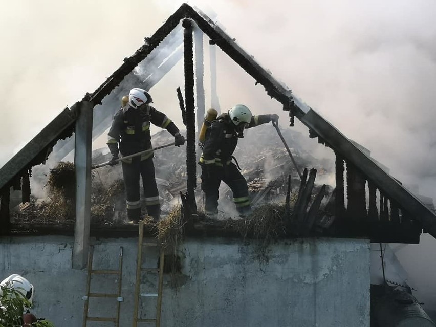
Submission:
MULTIPOLYGON (((254 131, 253 131, 254 132, 254 131)), ((247 184, 250 191, 250 197, 252 199, 252 205, 258 210, 254 210, 253 215, 256 216, 259 212, 263 212, 262 215, 270 219, 283 215, 286 222, 286 218, 291 221, 291 213, 294 206, 297 204, 298 192, 300 189, 300 179, 289 160, 288 153, 278 137, 274 135, 275 131, 272 126, 264 125, 256 128, 256 145, 250 144, 250 136, 247 133, 247 143, 235 152, 235 157, 238 160, 238 164, 241 166, 242 173, 247 179, 247 184), (258 140, 263 140, 261 146, 259 146, 258 140), (290 188, 288 188, 288 185, 290 188), (289 191, 289 194, 288 194, 289 191), (288 200, 287 200, 288 195, 288 200), (286 207, 286 203, 289 204, 289 208, 286 207)), ((254 136, 254 134, 253 134, 254 136)), ((301 133, 295 132, 292 129, 287 129, 285 137, 291 144, 292 151, 295 153, 299 165, 311 166, 316 162, 316 159, 311 156, 309 151, 304 150, 304 147, 300 145, 301 142, 307 142, 301 133)), ((169 143, 172 139, 166 131, 161 131, 152 137, 155 145, 169 143)), ((251 140, 251 142, 253 142, 251 140)), ((200 149, 199 149, 200 150, 200 149)), ((110 159, 110 154, 104 154, 107 152, 105 148, 97 149, 93 151, 93 163, 99 164, 110 159)), ((180 206, 181 199, 180 193, 184 193, 187 190, 186 185, 186 158, 184 156, 184 149, 177 147, 169 147, 163 150, 159 150, 155 154, 155 167, 156 167, 156 179, 159 188, 161 209, 164 214, 168 214, 174 207, 180 206)), ((333 163, 328 165, 328 161, 323 162, 323 166, 316 166, 318 176, 332 175, 333 163), (330 169, 325 169, 325 166, 330 166, 330 169)), ((213 235, 226 234, 226 235, 243 235, 253 236, 249 230, 252 229, 250 224, 247 223, 247 219, 250 217, 244 217, 244 220, 237 222, 239 217, 235 210, 232 210, 232 193, 227 186, 222 186, 220 190, 220 202, 225 205, 220 205, 219 221, 207 219, 202 214, 202 191, 200 188, 200 167, 197 167, 197 188, 195 188, 195 198, 199 207, 199 214, 193 215, 194 220, 198 220, 195 223, 197 232, 204 234, 211 232, 213 235), (227 206, 228 205, 228 206, 227 206), (245 222, 245 223, 244 223, 245 222), (244 229, 244 227, 246 227, 244 229), (220 230, 223 232, 220 232, 220 230)), ((53 168, 49 175, 49 181, 46 187, 50 188, 50 199, 41 201, 31 197, 30 202, 25 205, 19 205, 13 212, 13 224, 16 227, 22 229, 44 229, 45 228, 60 228, 69 229, 74 223, 74 216, 64 210, 65 203, 71 202, 71 194, 74 194, 75 185, 72 182, 73 179, 63 178, 62 176, 74 177, 74 165, 71 163, 60 162, 58 166, 53 168), (71 175, 73 173, 73 175, 71 175), (53 189, 53 181, 63 182, 63 185, 56 184, 57 188, 53 189), (62 190, 60 192, 59 190, 62 190), (67 194, 67 195, 64 195, 67 194), (48 210, 48 208, 50 210, 48 210), (55 209, 58 208, 56 211, 55 209)), ((223 184, 224 185, 224 184, 223 184)), ((121 165, 114 167, 104 166, 93 171, 92 176, 92 207, 91 207, 91 224, 95 227, 103 226, 106 228, 126 230, 131 225, 127 221, 126 208, 125 208, 125 193, 124 185, 122 181, 121 165)), ((309 201, 312 203, 314 195, 319 190, 323 190, 324 195, 330 197, 332 193, 332 187, 320 187, 318 185, 313 186, 313 192, 309 194, 309 201)), ((322 199, 320 199, 322 200, 322 199)), ((321 210, 318 215, 318 231, 322 231, 323 228, 329 227, 329 225, 322 225, 322 218, 325 216, 324 208, 327 200, 324 200, 321 210)), ((309 204, 309 203, 308 203, 309 204)), ((308 206, 306 204, 306 206, 308 206)), ((319 205, 318 204, 318 208, 319 205)), ((68 206, 71 208, 71 206, 68 206)), ((317 211, 318 212, 318 211, 317 211)), ((325 221, 325 219, 324 219, 325 221)), ((314 222, 312 222, 314 224, 314 222)), ((291 227, 290 225, 288 226, 291 227)), ((280 229, 280 228, 279 228, 280 229)), ((306 227, 307 229, 307 227, 306 227)), ((196 233, 195 231, 191 231, 196 233)), ((291 233, 291 232, 290 232, 291 233)), ((308 231, 305 231, 308 233, 308 231)), ((297 234, 295 226, 291 234, 297 234)), ((257 235, 257 234, 256 234, 257 235)), ((278 235, 278 234, 277 234, 278 235)), ((286 236, 286 232, 281 233, 281 236, 286 236)))

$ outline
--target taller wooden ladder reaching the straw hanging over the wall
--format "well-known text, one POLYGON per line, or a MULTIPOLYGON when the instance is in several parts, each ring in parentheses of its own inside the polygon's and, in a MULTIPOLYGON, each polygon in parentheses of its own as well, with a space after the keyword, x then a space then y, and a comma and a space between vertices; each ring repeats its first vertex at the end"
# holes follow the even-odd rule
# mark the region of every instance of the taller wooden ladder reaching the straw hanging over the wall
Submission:
POLYGON ((144 246, 147 247, 158 247, 158 242, 156 239, 152 241, 144 242, 144 222, 141 220, 139 222, 139 239, 138 239, 138 259, 136 267, 136 281, 135 281, 135 306, 134 306, 134 316, 133 316, 133 327, 138 326, 138 322, 155 322, 156 327, 161 325, 161 307, 162 307, 162 285, 163 285, 163 270, 164 270, 164 251, 159 251, 159 268, 152 267, 142 267, 142 251, 144 246), (143 273, 155 273, 158 274, 158 292, 157 293, 140 293, 141 276, 143 273), (156 304, 156 318, 138 318, 139 309, 139 298, 143 297, 157 297, 156 304))

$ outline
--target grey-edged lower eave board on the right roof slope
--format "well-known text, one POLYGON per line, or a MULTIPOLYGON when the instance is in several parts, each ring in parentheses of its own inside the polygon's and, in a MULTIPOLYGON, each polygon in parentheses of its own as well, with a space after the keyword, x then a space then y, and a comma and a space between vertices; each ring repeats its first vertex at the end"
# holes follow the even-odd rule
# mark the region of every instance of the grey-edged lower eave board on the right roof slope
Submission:
POLYGON ((314 110, 310 110, 300 120, 314 130, 319 137, 326 140, 329 146, 341 156, 359 168, 369 180, 374 181, 389 197, 400 203, 405 210, 412 214, 413 219, 422 224, 425 232, 436 237, 436 215, 415 195, 383 171, 381 167, 314 110))

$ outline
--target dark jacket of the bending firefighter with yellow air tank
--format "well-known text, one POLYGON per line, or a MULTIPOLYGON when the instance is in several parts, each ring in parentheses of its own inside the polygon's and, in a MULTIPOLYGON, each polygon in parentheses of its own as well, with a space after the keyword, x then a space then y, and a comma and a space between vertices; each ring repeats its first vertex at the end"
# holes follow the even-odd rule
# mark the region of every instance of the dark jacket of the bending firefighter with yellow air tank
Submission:
MULTIPOLYGON (((252 116, 250 124, 246 128, 270 121, 271 115, 252 116)), ((227 113, 221 114, 216 120, 212 121, 210 127, 206 130, 200 164, 221 167, 230 164, 238 138, 241 137, 235 127, 227 113)))

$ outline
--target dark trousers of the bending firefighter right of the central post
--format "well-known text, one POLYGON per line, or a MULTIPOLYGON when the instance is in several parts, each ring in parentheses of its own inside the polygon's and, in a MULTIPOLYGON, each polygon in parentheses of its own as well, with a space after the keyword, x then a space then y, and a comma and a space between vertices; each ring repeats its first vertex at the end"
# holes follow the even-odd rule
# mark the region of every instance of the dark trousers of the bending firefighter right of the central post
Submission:
POLYGON ((221 181, 226 183, 233 192, 233 202, 240 214, 251 212, 247 181, 234 163, 224 167, 202 165, 201 189, 205 193, 205 212, 216 216, 218 213, 218 198, 221 181))

